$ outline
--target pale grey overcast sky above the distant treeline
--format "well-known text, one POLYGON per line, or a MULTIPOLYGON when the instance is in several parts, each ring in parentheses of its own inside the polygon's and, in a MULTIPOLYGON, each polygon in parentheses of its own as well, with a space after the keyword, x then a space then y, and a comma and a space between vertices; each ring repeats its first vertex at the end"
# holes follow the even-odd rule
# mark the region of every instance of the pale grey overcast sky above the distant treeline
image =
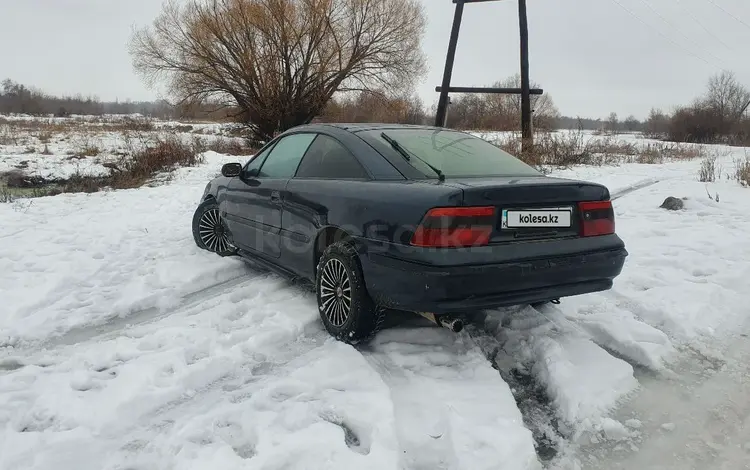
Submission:
MULTIPOLYGON (((454 5, 422 0, 430 72, 419 88, 437 99, 454 5)), ((565 115, 647 115, 701 93, 721 69, 750 87, 748 0, 528 0, 531 78, 565 115), (726 12, 725 12, 726 11, 726 12), (728 12, 728 13, 727 13, 728 12), (744 23, 744 24, 743 24, 744 23)), ((0 79, 54 94, 153 99, 131 67, 133 25, 159 0, 0 0, 0 79)), ((519 70, 516 0, 467 5, 454 86, 485 86, 519 70)))

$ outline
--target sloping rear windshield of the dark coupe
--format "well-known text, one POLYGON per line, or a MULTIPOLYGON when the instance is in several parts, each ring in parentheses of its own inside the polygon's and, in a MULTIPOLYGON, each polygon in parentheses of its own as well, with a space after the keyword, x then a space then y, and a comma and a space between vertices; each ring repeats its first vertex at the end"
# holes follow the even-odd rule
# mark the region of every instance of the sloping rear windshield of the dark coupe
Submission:
POLYGON ((542 175, 499 147, 463 132, 401 128, 368 130, 361 134, 390 146, 382 133, 398 142, 410 157, 418 157, 409 158, 408 162, 429 177, 435 176, 430 165, 443 172, 446 178, 542 175))

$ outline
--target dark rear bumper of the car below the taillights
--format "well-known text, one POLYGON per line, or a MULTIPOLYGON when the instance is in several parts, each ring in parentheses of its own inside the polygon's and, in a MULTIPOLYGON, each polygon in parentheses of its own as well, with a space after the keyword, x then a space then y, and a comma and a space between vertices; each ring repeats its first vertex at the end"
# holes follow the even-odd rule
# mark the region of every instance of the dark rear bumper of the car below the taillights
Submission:
POLYGON ((619 245, 459 266, 428 265, 367 250, 360 259, 368 291, 377 303, 401 310, 452 313, 610 289, 628 255, 621 241, 619 245))

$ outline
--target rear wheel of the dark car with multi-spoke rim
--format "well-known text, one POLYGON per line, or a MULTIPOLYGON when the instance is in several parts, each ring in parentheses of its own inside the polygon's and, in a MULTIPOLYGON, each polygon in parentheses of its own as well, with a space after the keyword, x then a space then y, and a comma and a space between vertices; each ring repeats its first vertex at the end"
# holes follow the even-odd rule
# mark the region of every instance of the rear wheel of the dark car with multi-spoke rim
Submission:
POLYGON ((345 343, 369 340, 385 319, 383 309, 367 293, 359 257, 349 243, 337 242, 325 249, 318 262, 315 293, 323 325, 345 343))

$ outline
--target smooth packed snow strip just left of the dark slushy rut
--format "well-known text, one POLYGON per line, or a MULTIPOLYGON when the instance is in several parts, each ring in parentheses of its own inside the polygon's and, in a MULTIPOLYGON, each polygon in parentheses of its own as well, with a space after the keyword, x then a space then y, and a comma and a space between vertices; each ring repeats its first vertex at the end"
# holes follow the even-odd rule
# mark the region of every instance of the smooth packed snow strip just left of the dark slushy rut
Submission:
POLYGON ((539 468, 511 390, 476 342, 421 317, 399 323, 358 347, 390 391, 398 468, 539 468))

